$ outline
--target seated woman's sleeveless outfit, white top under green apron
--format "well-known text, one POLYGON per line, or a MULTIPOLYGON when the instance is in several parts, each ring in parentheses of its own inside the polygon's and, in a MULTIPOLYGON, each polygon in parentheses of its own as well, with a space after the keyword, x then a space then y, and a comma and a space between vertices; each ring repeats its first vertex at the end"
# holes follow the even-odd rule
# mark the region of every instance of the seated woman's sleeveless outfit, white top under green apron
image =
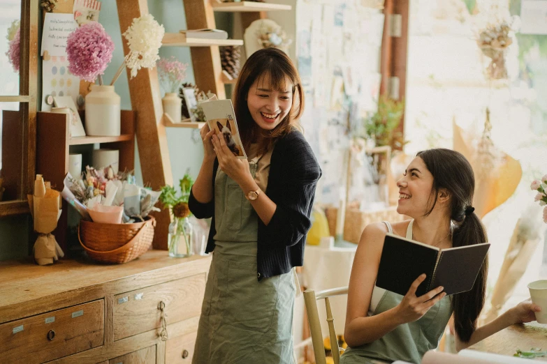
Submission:
MULTIPOLYGON (((387 221, 384 223, 393 234, 393 228, 387 221)), ((407 238, 412 238, 411 220, 407 228, 407 238)), ((452 314, 451 296, 445 296, 435 303, 420 319, 397 326, 378 340, 359 347, 348 348, 340 357, 340 364, 373 364, 407 361, 421 363, 426 351, 435 349, 442 337, 444 328, 452 314)), ((403 296, 386 291, 374 285, 368 315, 391 310, 402 301, 403 296)))

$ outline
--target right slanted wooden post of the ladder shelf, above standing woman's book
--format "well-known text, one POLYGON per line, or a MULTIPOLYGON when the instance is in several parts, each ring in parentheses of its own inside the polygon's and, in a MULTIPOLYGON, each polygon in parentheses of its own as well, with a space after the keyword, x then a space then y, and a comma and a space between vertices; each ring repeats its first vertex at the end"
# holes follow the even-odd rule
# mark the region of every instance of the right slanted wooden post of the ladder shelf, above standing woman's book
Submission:
MULTIPOLYGON (((216 28, 210 0, 184 0, 183 3, 187 29, 216 28)), ((202 91, 217 94, 219 99, 226 98, 224 82, 220 77, 222 66, 219 47, 191 47, 190 53, 196 86, 202 91)))

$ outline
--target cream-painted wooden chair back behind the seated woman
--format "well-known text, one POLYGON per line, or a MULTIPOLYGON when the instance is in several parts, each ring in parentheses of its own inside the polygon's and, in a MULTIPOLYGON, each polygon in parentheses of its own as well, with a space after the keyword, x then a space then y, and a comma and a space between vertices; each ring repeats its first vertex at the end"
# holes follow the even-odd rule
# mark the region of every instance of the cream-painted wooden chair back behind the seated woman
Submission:
POLYGON ((330 310, 329 297, 348 294, 348 287, 339 287, 333 289, 325 289, 324 291, 316 292, 313 289, 304 291, 304 302, 306 304, 307 321, 309 331, 312 334, 312 346, 314 347, 316 364, 326 364, 325 347, 323 346, 323 335, 321 333, 321 323, 319 322, 319 312, 317 310, 317 301, 324 299, 327 311, 328 333, 330 337, 330 347, 332 348, 333 359, 335 364, 340 364, 340 351, 344 351, 338 347, 338 339, 334 326, 333 312, 330 310))

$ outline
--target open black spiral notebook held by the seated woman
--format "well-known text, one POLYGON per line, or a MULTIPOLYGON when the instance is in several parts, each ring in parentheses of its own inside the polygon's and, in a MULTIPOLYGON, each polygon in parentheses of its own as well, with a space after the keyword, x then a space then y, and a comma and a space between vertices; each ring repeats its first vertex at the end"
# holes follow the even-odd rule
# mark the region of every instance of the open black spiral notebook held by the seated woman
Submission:
POLYGON ((376 280, 377 287, 404 296, 421 274, 421 296, 439 286, 447 295, 473 288, 490 243, 439 249, 394 234, 386 234, 376 280))

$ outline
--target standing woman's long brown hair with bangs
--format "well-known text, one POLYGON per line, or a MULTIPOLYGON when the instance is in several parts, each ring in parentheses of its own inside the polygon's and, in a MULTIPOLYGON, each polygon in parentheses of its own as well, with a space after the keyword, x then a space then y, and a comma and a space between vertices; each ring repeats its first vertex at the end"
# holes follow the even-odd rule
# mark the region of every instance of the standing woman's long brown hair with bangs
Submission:
POLYGON ((270 83, 277 91, 282 90, 286 77, 289 77, 293 84, 293 105, 284 119, 273 130, 263 132, 263 143, 258 149, 265 151, 277 137, 286 135, 293 129, 296 120, 304 111, 304 93, 302 82, 293 62, 282 50, 277 48, 264 48, 251 54, 240 70, 238 82, 232 96, 235 119, 238 121, 241 142, 248 151, 253 139, 256 138, 258 128, 254 122, 249 107, 247 106, 247 95, 256 79, 268 77, 270 83))

